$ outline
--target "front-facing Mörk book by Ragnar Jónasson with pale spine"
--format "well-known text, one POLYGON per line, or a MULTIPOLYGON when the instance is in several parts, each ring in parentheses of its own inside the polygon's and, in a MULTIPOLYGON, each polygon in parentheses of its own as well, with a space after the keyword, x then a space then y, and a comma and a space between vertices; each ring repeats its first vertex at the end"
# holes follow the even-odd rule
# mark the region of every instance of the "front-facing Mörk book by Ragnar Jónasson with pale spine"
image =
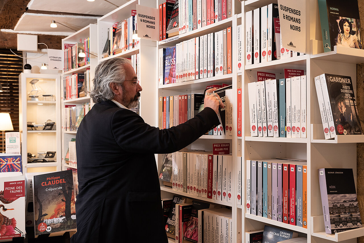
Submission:
POLYGON ((352 168, 318 169, 326 234, 363 227, 352 168))

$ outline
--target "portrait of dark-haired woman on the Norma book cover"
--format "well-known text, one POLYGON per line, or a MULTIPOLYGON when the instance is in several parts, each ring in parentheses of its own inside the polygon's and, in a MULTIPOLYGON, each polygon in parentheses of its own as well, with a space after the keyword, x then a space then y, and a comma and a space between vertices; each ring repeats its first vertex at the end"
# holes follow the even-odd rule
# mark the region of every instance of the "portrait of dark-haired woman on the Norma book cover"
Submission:
MULTIPOLYGON (((335 21, 339 28, 335 28, 339 33, 332 35, 335 40, 331 40, 343 47, 363 49, 360 36, 360 22, 352 18, 338 17, 335 21)), ((335 23, 336 24, 336 23, 335 23)), ((335 31, 334 29, 334 31, 335 31)))

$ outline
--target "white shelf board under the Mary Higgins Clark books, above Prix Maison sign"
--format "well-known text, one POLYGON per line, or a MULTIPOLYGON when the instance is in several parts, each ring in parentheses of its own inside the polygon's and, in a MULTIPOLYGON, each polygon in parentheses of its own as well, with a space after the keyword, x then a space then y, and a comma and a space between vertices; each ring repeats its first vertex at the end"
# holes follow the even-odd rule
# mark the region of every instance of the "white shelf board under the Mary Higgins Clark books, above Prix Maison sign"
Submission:
POLYGON ((264 63, 245 65, 245 70, 256 71, 256 69, 259 69, 259 71, 265 72, 283 72, 284 68, 306 70, 307 57, 308 55, 294 56, 274 61, 266 61, 264 63))

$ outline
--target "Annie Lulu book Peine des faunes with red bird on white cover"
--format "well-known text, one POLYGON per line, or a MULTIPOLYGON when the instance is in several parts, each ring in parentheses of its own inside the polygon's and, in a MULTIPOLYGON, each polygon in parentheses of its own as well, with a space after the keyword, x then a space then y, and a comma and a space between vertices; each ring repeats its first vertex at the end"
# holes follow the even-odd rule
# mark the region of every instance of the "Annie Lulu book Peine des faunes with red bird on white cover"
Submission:
POLYGON ((25 237, 25 180, 21 172, 0 176, 0 242, 25 237))

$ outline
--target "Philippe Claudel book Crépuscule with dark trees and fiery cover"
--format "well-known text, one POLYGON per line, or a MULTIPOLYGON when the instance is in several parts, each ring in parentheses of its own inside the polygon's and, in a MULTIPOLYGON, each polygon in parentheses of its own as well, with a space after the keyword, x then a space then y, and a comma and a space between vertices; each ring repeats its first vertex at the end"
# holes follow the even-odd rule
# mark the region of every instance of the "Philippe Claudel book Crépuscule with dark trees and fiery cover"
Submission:
POLYGON ((76 230, 74 184, 71 170, 35 175, 33 179, 34 232, 63 235, 76 230))

